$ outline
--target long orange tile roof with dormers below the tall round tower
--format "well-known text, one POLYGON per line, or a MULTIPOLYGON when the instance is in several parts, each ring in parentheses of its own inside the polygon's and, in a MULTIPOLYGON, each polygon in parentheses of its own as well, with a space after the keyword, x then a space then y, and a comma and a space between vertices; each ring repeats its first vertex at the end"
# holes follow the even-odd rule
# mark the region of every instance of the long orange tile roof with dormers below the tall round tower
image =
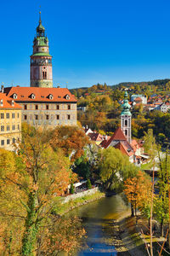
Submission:
POLYGON ((77 102, 77 99, 67 88, 38 88, 38 87, 7 87, 4 88, 4 92, 10 98, 14 93, 17 95, 15 102, 77 102), (35 95, 35 99, 31 98, 31 94, 35 95), (53 96, 53 99, 49 99, 49 95, 53 96), (70 99, 66 99, 65 96, 70 96, 70 99))

